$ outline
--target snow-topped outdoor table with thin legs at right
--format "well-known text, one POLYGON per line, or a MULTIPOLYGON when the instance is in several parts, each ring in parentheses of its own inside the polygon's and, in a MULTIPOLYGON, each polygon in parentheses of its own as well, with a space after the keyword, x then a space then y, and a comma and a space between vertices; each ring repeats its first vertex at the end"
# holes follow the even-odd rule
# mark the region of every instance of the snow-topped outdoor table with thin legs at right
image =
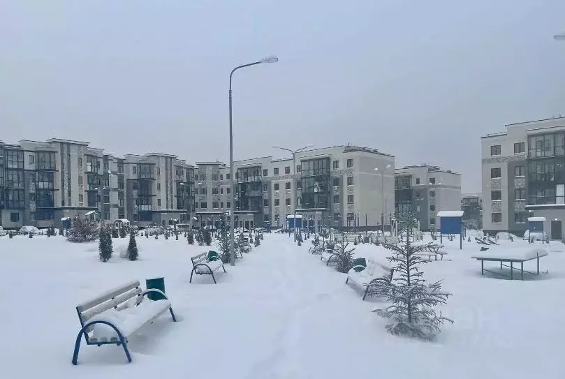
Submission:
POLYGON ((539 258, 545 257, 548 255, 548 251, 545 248, 509 248, 504 251, 497 251, 497 249, 490 249, 488 250, 490 253, 482 252, 484 255, 477 255, 471 257, 474 260, 480 260, 480 274, 484 275, 485 271, 490 272, 492 274, 497 274, 501 276, 508 277, 501 272, 494 272, 489 269, 485 269, 485 261, 487 262, 499 262, 500 269, 502 267, 510 268, 510 278, 513 280, 514 278, 514 270, 520 271, 520 279, 524 280, 524 272, 532 275, 539 275, 539 258), (529 260, 536 260, 537 261, 537 271, 534 274, 533 272, 529 272, 524 270, 524 262, 528 262, 529 260), (504 263, 509 263, 510 265, 505 265, 504 263), (514 263, 520 263, 520 268, 514 267, 514 263))

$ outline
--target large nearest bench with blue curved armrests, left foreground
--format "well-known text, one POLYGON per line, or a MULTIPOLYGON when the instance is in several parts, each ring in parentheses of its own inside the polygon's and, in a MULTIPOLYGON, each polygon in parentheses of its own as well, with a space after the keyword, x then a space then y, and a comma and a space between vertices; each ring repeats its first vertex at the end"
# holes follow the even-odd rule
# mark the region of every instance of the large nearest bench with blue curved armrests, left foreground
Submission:
POLYGON ((173 321, 177 321, 167 296, 154 288, 142 290, 139 281, 104 292, 79 304, 76 310, 81 329, 75 342, 73 364, 77 364, 80 339, 83 335, 87 345, 122 345, 128 362, 131 362, 127 347, 129 336, 166 311, 170 311, 173 321), (157 292, 165 299, 144 301, 149 292, 157 292))

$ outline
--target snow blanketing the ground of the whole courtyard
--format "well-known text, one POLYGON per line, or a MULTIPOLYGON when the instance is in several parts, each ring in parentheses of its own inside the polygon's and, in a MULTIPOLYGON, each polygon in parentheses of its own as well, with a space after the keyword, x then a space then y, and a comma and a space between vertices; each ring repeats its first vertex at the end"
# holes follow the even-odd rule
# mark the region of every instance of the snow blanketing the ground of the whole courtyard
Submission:
MULTIPOLYGON (((310 241, 265 235, 236 267, 226 265, 217 285, 210 276, 189 283, 190 257, 206 246, 138 237, 140 260, 129 262, 117 254, 127 239, 113 241, 115 257, 102 263, 96 243, 0 238, 3 378, 564 378, 565 252, 541 258, 541 276, 509 281, 480 276, 474 241, 459 251, 458 240, 444 240, 446 258, 423 269, 428 280, 445 278, 453 297, 440 309, 455 324, 429 343, 387 334, 386 320, 371 312, 386 303, 362 302, 345 274, 307 252, 310 241), (73 366, 76 304, 154 276, 165 276, 179 322, 166 314, 134 336, 131 364, 115 345, 83 344, 73 366)), ((501 241, 490 251, 518 245, 527 242, 501 241)), ((380 246, 353 247, 386 262, 380 246)))

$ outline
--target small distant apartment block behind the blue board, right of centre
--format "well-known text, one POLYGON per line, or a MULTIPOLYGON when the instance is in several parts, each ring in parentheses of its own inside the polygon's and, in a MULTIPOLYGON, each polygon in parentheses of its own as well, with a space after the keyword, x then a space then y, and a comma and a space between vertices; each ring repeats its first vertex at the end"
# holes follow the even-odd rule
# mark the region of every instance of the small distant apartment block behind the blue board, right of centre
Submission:
POLYGON ((394 196, 392 213, 411 212, 420 221, 420 230, 433 230, 438 211, 461 209, 461 174, 425 164, 398 168, 394 196))

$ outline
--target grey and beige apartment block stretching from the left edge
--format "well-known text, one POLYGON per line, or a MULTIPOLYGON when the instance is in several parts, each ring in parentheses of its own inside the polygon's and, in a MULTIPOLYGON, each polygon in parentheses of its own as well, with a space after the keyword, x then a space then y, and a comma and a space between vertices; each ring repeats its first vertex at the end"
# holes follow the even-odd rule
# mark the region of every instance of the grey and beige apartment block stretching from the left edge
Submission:
POLYGON ((117 158, 87 142, 0 142, 0 225, 57 227, 89 212, 140 225, 189 223, 193 170, 177 156, 117 158))

